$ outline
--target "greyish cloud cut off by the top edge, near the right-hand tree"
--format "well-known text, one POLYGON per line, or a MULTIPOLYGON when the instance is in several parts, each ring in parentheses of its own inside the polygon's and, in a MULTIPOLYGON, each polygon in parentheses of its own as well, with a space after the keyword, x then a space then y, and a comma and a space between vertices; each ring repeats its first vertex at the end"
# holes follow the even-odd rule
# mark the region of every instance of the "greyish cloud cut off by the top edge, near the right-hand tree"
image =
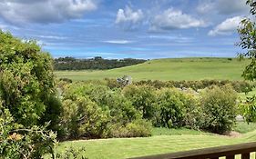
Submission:
POLYGON ((200 14, 217 12, 220 15, 234 15, 248 13, 249 10, 246 0, 200 0, 197 7, 200 14))

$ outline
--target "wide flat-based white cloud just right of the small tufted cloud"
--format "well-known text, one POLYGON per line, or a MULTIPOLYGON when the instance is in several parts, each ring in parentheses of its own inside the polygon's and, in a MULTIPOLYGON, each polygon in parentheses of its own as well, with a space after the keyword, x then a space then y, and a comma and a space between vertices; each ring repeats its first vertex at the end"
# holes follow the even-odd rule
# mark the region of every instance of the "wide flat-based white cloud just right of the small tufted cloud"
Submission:
POLYGON ((206 23, 203 20, 182 13, 180 10, 169 8, 160 15, 156 15, 152 22, 151 31, 188 29, 191 27, 204 27, 206 23))

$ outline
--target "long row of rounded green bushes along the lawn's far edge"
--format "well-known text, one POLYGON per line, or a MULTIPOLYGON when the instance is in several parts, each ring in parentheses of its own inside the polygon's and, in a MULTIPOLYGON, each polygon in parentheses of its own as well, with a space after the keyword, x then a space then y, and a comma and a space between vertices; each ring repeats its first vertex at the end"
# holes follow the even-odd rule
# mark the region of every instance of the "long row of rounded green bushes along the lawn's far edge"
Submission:
POLYGON ((63 111, 58 135, 64 138, 149 136, 152 125, 222 134, 235 122, 236 92, 230 85, 195 94, 176 88, 60 84, 63 111))

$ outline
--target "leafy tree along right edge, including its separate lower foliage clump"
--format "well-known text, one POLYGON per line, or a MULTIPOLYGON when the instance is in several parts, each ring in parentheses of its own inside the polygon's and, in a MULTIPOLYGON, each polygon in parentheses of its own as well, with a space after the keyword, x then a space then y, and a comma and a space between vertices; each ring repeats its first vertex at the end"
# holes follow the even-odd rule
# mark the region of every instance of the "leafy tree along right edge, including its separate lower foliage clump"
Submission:
MULTIPOLYGON (((238 29, 241 42, 238 44, 247 52, 241 54, 241 57, 251 58, 251 63, 246 66, 242 76, 254 81, 256 79, 256 1, 247 0, 247 5, 251 7, 251 16, 241 21, 241 26, 238 29)), ((248 97, 245 104, 241 104, 241 112, 247 122, 256 122, 256 96, 248 97)))

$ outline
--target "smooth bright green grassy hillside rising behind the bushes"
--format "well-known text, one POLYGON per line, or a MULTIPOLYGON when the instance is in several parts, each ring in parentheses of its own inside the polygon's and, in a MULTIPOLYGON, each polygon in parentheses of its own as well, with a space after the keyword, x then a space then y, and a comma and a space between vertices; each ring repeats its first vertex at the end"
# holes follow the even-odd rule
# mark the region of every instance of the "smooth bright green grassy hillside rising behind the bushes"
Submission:
POLYGON ((180 58, 158 59, 144 64, 132 65, 107 71, 59 71, 59 78, 74 81, 117 78, 131 75, 133 80, 242 80, 241 73, 249 60, 238 61, 228 58, 180 58))

